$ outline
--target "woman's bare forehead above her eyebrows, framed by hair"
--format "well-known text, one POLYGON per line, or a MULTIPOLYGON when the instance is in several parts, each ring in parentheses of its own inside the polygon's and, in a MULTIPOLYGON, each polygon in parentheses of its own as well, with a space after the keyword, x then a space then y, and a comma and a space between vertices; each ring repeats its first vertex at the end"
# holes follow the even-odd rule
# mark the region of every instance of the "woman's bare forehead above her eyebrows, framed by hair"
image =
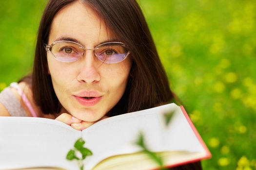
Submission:
POLYGON ((65 6, 54 17, 48 43, 61 37, 77 39, 84 45, 97 45, 114 38, 104 20, 81 1, 65 6))

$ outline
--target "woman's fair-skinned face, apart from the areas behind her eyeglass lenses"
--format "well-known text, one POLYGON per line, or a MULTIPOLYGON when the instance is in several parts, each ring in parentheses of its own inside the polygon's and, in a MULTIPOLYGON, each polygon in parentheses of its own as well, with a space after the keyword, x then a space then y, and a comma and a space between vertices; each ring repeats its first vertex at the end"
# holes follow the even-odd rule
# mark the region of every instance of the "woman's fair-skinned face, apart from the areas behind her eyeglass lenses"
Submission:
MULTIPOLYGON (((104 21, 88 6, 76 1, 61 9, 51 25, 48 44, 58 40, 77 41, 87 49, 114 41, 104 21)), ((85 50, 71 63, 57 61, 47 52, 49 74, 65 112, 84 121, 97 121, 122 97, 131 68, 129 56, 122 62, 106 64, 85 50)))

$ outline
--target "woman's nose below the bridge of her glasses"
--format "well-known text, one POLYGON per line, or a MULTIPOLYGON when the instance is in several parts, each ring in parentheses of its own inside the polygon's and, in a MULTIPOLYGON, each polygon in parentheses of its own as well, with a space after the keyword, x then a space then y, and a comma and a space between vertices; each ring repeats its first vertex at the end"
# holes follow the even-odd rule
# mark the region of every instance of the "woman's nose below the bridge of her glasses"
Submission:
POLYGON ((80 83, 96 83, 100 81, 99 67, 93 50, 86 50, 80 58, 77 80, 80 83))

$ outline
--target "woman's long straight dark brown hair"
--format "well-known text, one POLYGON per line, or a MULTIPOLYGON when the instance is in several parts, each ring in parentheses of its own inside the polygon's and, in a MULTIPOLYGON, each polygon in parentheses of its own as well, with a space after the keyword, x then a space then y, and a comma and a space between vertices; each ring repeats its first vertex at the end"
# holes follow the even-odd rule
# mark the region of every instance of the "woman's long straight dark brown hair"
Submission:
MULTIPOLYGON (((32 75, 35 102, 44 114, 59 113, 61 105, 47 74, 44 44, 54 16, 76 0, 50 0, 39 25, 32 75)), ((173 99, 156 46, 136 0, 82 0, 94 9, 118 39, 132 51, 132 68, 123 97, 108 116, 138 111, 173 99), (114 9, 114 10, 113 10, 114 9)))

